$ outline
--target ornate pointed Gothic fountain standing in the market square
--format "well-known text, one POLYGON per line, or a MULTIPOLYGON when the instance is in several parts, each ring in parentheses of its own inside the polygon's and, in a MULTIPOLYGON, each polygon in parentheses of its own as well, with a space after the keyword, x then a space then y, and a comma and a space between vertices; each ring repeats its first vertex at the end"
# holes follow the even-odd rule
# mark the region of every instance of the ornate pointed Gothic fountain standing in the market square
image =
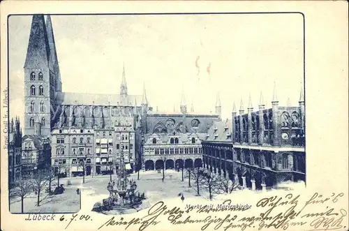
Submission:
POLYGON ((107 184, 109 197, 102 202, 96 202, 92 211, 103 214, 131 214, 149 207, 148 202, 144 202, 144 193, 136 195, 137 184, 133 179, 128 179, 124 152, 121 151, 119 169, 117 170, 116 182, 110 181, 107 184))

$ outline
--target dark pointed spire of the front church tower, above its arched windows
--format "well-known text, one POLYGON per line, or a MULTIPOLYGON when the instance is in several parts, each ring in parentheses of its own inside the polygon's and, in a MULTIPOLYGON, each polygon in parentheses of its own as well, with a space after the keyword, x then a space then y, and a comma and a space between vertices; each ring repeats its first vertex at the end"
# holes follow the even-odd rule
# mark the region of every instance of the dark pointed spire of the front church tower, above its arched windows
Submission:
POLYGON ((44 15, 33 15, 24 68, 48 67, 50 48, 44 15))

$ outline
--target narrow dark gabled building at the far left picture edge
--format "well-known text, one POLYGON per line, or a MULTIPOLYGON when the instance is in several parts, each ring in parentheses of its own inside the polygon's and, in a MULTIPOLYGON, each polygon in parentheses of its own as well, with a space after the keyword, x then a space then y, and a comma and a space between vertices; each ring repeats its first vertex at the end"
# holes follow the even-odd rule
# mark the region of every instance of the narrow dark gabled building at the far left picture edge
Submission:
POLYGON ((8 184, 12 184, 22 176, 22 128, 20 119, 10 121, 8 128, 8 184))

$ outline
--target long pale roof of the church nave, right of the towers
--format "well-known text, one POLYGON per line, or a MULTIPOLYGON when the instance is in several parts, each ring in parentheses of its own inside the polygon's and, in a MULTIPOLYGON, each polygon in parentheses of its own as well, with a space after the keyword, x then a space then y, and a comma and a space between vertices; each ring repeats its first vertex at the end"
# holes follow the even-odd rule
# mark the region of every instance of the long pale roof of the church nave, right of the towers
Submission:
MULTIPOLYGON (((141 95, 128 95, 128 102, 141 102, 141 95)), ((57 94, 57 101, 62 105, 119 105, 121 104, 120 94, 91 94, 61 92, 57 94)))

